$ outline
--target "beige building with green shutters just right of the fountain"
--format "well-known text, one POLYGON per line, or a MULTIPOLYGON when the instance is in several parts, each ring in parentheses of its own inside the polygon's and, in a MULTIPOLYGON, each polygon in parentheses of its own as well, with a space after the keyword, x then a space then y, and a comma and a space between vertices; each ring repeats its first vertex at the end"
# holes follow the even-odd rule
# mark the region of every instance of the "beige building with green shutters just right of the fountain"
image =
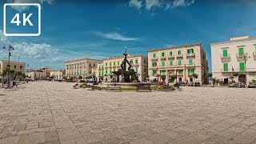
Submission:
POLYGON ((208 62, 201 43, 148 50, 148 62, 150 79, 159 81, 166 75, 166 82, 174 77, 176 82, 208 83, 208 62))

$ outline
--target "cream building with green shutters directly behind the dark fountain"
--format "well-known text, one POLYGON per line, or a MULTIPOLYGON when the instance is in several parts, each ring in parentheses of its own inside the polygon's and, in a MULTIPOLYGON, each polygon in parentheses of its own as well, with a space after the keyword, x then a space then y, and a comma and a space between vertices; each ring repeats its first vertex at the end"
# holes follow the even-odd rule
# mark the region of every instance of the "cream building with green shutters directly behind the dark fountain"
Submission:
MULTIPOLYGON (((98 64, 98 70, 94 70, 96 77, 103 77, 103 81, 110 82, 111 76, 113 75, 112 72, 118 71, 121 69, 121 64, 124 59, 122 57, 115 57, 115 58, 106 58, 103 59, 101 64, 98 64)), ((138 79, 140 82, 146 81, 147 73, 147 57, 143 55, 127 55, 127 60, 132 65, 131 69, 134 69, 137 72, 138 79)), ((126 65, 128 67, 128 65, 126 65)))

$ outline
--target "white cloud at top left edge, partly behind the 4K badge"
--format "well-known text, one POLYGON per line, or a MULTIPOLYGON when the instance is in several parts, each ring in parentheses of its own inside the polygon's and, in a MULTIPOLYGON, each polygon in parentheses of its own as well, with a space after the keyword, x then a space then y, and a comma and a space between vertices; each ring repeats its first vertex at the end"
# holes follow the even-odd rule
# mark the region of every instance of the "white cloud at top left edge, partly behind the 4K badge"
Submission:
MULTIPOLYGON (((51 4, 54 0, 8 0, 10 3, 40 3, 43 5, 44 3, 51 4)), ((18 10, 22 12, 24 10, 28 10, 29 6, 11 6, 14 10, 18 10)))

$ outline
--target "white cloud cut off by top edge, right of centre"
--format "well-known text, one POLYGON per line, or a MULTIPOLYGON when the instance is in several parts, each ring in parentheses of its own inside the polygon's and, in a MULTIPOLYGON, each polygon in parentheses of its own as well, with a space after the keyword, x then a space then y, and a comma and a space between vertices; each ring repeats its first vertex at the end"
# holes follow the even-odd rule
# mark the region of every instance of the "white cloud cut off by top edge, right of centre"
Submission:
POLYGON ((165 9, 174 9, 179 6, 190 6, 195 0, 130 0, 129 5, 138 9, 146 7, 151 10, 154 7, 164 7, 165 9))

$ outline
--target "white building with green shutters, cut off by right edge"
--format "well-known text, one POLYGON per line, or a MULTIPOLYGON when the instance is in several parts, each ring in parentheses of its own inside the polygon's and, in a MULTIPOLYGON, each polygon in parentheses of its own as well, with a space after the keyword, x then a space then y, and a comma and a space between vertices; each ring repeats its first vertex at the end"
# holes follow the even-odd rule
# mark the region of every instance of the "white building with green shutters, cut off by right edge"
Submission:
POLYGON ((213 78, 224 84, 232 79, 245 84, 256 82, 256 38, 230 38, 230 41, 212 43, 210 46, 213 78), (234 73, 239 74, 238 78, 232 76, 234 73))

